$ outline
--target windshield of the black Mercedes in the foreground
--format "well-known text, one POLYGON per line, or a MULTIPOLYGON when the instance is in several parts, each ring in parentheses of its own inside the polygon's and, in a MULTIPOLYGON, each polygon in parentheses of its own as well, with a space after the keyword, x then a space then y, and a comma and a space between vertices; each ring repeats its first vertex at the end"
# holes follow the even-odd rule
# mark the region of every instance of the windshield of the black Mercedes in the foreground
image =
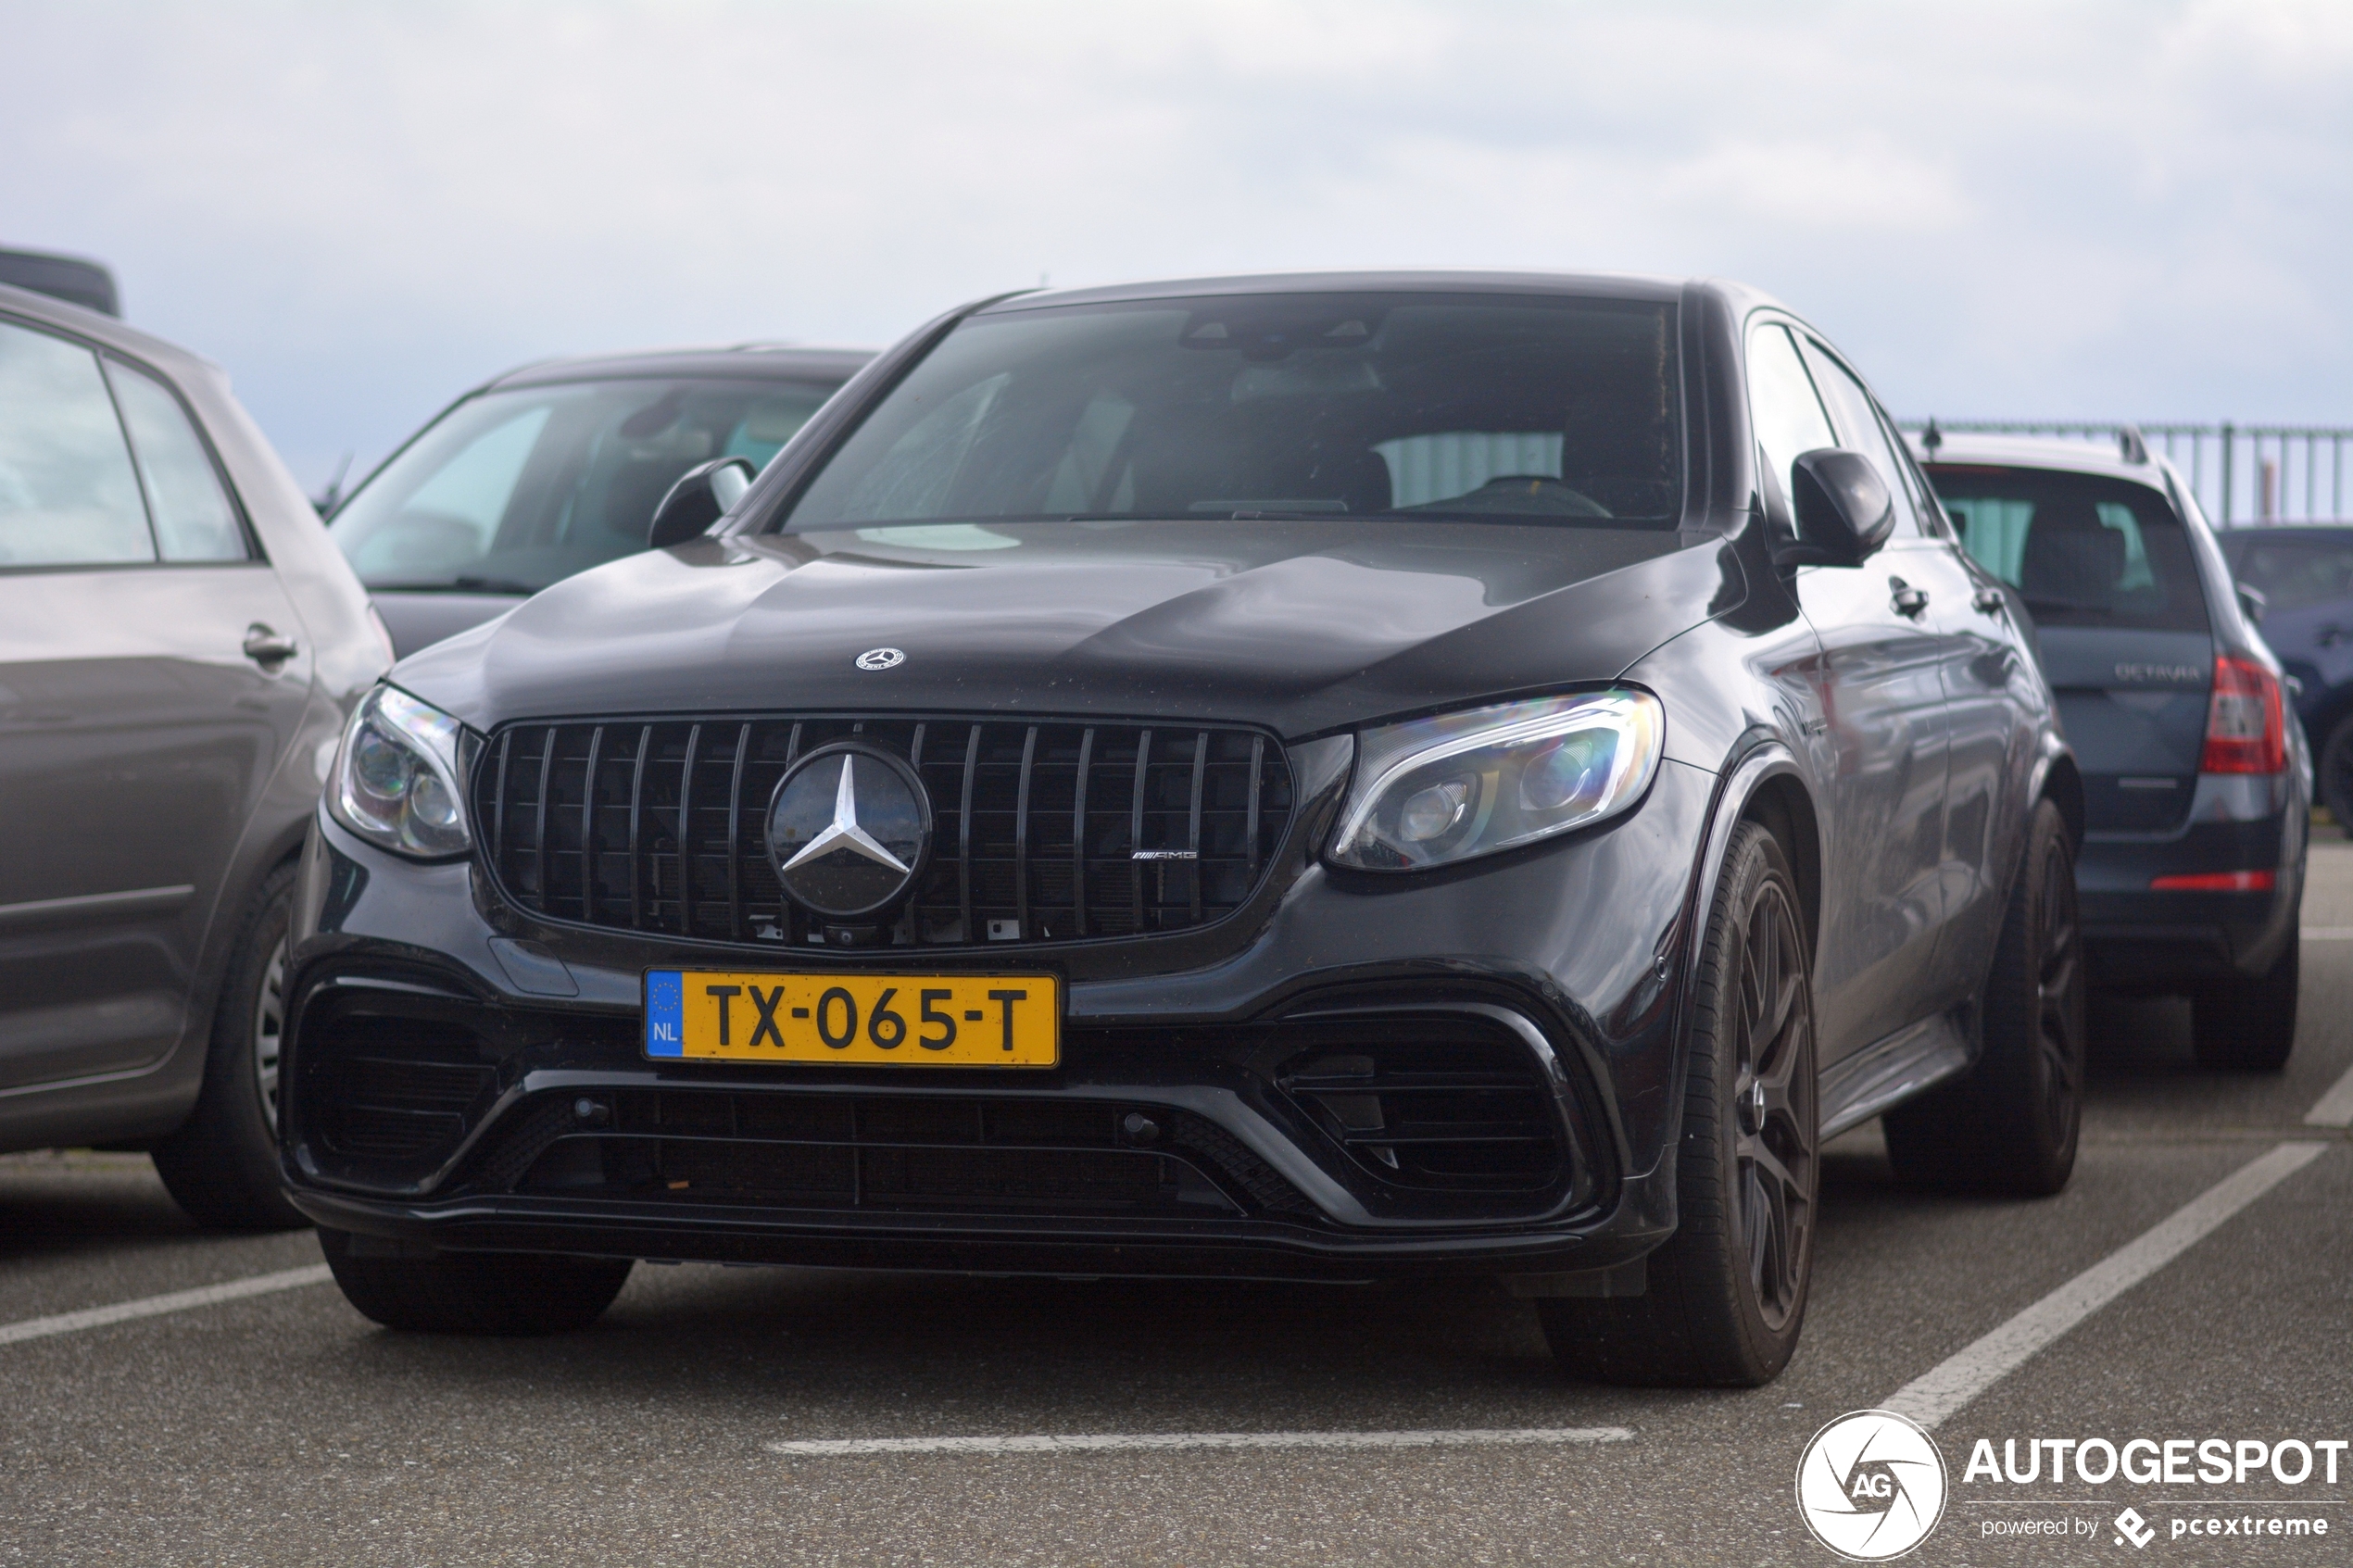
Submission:
POLYGON ((1106 517, 1673 527, 1673 308, 1278 294, 976 315, 793 529, 1106 517))

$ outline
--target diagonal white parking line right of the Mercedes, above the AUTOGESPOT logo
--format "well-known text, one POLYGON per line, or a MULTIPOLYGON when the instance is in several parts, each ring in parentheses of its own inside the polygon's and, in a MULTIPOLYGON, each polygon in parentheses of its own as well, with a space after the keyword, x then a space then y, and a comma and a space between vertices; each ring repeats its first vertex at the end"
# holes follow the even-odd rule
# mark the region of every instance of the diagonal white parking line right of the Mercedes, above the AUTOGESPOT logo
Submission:
MULTIPOLYGON (((2341 1088, 2341 1086, 2339 1086, 2341 1088)), ((2332 1095, 2337 1091, 2329 1091, 2332 1095)), ((1934 1427, 2024 1366, 2038 1349, 2085 1321, 2195 1246, 2207 1232, 2313 1164, 2325 1143, 2282 1143, 2108 1253, 2026 1312, 1880 1401, 1882 1410, 1934 1427)))

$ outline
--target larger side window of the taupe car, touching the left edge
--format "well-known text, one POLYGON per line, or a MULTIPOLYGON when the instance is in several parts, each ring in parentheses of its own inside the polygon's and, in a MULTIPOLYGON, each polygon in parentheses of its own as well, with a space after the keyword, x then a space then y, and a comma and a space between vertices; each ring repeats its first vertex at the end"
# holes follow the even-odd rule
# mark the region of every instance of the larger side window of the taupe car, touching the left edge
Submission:
POLYGON ((0 569, 153 559, 99 357, 0 322, 0 569))

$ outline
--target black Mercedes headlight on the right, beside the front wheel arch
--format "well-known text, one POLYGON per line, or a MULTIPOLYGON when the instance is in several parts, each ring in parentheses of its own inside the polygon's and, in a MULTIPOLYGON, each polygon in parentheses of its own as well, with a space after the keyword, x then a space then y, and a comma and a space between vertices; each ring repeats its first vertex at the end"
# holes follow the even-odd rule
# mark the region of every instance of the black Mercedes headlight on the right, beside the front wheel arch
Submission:
POLYGON ((1666 712, 1647 691, 1369 729, 1332 863, 1409 872, 1586 827, 1642 797, 1664 738, 1666 712))

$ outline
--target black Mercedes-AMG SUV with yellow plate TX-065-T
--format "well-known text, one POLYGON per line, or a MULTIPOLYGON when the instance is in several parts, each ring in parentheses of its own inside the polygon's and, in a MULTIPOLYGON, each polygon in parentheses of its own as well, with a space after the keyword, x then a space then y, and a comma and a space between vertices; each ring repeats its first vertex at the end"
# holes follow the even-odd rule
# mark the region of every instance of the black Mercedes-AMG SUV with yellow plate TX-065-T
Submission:
POLYGON ((1824 1138, 2066 1180, 2049 691, 1772 301, 1024 294, 746 470, 346 731, 282 1147, 369 1316, 1499 1274, 1574 1371, 1760 1382, 1824 1138))

